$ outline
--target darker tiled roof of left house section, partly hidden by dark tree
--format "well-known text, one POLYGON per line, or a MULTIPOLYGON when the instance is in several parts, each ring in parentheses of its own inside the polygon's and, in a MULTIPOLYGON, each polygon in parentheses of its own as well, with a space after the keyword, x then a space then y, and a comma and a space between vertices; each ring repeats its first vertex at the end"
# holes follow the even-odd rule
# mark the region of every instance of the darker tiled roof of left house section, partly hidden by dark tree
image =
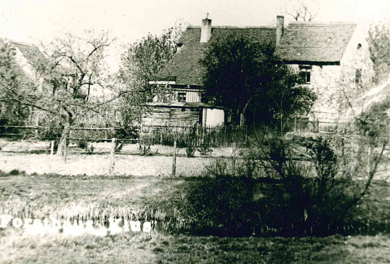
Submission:
POLYGON ((205 69, 199 60, 205 56, 212 43, 232 35, 237 38, 245 37, 254 42, 270 43, 274 46, 276 28, 214 26, 209 41, 200 43, 200 27, 188 27, 178 41, 179 46, 182 44, 182 47, 161 72, 160 77, 166 80, 176 76, 176 84, 178 85, 202 85, 205 69))

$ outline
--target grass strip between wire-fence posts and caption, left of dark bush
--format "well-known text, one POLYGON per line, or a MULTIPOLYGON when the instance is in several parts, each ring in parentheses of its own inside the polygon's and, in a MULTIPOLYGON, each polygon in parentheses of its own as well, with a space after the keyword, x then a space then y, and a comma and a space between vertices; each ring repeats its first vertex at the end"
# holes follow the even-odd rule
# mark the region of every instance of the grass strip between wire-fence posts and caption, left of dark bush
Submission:
MULTIPOLYGON (((17 174, 17 175, 11 175, 17 174)), ((42 218, 133 215, 163 219, 195 178, 25 175, 0 177, 0 214, 42 218)))

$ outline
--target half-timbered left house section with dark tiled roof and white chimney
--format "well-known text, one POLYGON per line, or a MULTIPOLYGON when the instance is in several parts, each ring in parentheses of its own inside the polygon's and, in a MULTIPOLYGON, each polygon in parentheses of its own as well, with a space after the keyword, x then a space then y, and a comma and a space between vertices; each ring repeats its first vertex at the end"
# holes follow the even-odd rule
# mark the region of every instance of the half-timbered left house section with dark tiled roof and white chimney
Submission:
MULTIPOLYGON (((258 43, 275 45, 274 27, 212 27, 211 19, 203 19, 202 26, 190 26, 177 42, 177 52, 172 61, 160 73, 158 85, 170 85, 174 95, 163 103, 155 97, 147 121, 165 123, 199 123, 208 126, 226 123, 223 107, 205 104, 201 101, 202 78, 205 69, 199 64, 211 45, 236 35, 258 43), (178 109, 178 110, 177 110, 178 109), (180 112, 180 111, 181 112, 180 112), (161 117, 163 116, 163 117, 161 117), (162 118, 162 119, 160 119, 162 118)), ((151 82, 155 83, 155 82, 151 82)))

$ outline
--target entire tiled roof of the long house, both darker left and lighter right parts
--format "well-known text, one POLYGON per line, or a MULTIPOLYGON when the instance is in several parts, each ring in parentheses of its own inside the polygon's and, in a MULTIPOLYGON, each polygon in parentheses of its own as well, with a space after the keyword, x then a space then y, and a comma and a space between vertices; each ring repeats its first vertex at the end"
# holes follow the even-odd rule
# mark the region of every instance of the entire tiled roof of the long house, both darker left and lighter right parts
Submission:
MULTIPOLYGON (((355 28, 356 23, 352 22, 293 22, 285 27, 276 53, 285 61, 339 62, 355 28)), ((182 44, 182 47, 160 77, 164 80, 176 78, 178 85, 202 85, 205 69, 199 60, 205 56, 212 43, 232 35, 272 45, 276 41, 274 27, 214 26, 209 41, 200 43, 200 27, 191 26, 179 39, 178 44, 182 44)))

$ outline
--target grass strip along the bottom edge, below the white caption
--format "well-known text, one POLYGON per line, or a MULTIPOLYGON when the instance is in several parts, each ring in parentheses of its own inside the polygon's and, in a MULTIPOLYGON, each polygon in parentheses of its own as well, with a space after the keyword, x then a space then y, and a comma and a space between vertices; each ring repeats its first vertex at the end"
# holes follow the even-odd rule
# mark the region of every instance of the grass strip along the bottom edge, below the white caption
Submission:
POLYGON ((389 245, 389 235, 285 239, 14 234, 1 238, 0 263, 390 263, 389 245))

